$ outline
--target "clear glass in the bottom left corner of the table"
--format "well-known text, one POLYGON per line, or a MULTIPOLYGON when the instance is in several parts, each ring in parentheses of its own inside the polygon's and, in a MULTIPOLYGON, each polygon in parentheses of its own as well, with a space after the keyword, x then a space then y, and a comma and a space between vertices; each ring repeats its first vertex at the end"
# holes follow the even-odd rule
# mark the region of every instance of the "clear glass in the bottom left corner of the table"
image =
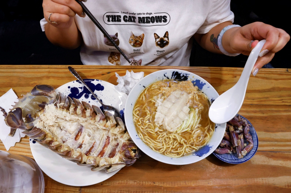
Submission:
POLYGON ((43 193, 45 181, 36 162, 0 150, 1 193, 43 193))

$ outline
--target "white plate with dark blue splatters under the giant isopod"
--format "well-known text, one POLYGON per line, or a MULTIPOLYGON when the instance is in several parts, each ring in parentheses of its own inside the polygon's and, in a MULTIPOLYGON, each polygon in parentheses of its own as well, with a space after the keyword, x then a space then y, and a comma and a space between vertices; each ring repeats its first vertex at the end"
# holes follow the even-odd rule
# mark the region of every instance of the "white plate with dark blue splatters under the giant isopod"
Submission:
MULTIPOLYGON (((123 116, 127 98, 125 93, 115 90, 113 84, 105 81, 95 79, 84 79, 84 81, 104 104, 112 105, 119 109, 121 111, 120 114, 123 116)), ((57 88, 56 92, 61 92, 67 96, 69 95, 71 98, 74 97, 89 102, 91 105, 101 106, 95 98, 95 100, 91 99, 92 94, 88 90, 84 90, 84 86, 79 81, 64 84, 57 88)), ((106 173, 105 170, 101 170, 93 172, 90 167, 79 166, 76 163, 66 160, 33 139, 30 139, 30 148, 36 163, 42 171, 55 181, 66 185, 87 186, 100 183, 119 171, 116 170, 106 173)))

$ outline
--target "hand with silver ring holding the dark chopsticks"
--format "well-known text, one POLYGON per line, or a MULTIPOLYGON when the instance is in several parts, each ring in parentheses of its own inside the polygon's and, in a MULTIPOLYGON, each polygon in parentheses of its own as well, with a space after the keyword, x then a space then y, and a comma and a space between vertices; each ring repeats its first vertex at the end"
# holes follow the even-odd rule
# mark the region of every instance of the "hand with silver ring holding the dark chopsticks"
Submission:
POLYGON ((43 0, 42 8, 47 22, 56 28, 70 28, 76 14, 80 17, 86 16, 82 7, 75 0, 43 0), (49 21, 50 14, 52 15, 49 21))

